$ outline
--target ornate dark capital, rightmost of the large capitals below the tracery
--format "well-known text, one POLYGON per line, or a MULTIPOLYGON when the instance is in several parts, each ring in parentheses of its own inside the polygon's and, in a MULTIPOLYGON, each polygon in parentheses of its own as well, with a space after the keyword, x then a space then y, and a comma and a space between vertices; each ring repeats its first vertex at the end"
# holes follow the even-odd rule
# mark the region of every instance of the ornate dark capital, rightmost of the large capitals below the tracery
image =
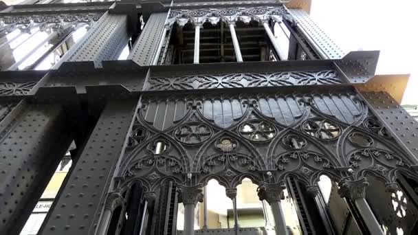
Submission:
POLYGON ((369 186, 369 182, 363 177, 355 181, 340 181, 338 185, 340 186, 338 190, 340 197, 346 197, 354 201, 366 197, 366 187, 369 186))

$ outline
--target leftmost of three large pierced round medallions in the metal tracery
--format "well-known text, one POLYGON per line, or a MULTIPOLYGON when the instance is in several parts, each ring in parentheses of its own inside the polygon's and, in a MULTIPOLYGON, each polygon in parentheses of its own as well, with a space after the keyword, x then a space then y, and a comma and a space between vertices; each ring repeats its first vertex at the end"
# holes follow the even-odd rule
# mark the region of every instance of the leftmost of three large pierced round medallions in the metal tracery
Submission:
POLYGON ((212 136, 212 128, 204 123, 188 122, 179 126, 174 136, 184 144, 201 144, 212 136))

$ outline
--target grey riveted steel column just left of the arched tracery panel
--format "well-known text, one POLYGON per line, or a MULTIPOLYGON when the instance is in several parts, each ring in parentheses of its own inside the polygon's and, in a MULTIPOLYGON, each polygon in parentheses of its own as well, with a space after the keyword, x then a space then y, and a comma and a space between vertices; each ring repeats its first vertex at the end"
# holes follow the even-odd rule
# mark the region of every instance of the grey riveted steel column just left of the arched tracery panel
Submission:
POLYGON ((136 99, 107 102, 39 234, 94 233, 136 109, 136 99))

